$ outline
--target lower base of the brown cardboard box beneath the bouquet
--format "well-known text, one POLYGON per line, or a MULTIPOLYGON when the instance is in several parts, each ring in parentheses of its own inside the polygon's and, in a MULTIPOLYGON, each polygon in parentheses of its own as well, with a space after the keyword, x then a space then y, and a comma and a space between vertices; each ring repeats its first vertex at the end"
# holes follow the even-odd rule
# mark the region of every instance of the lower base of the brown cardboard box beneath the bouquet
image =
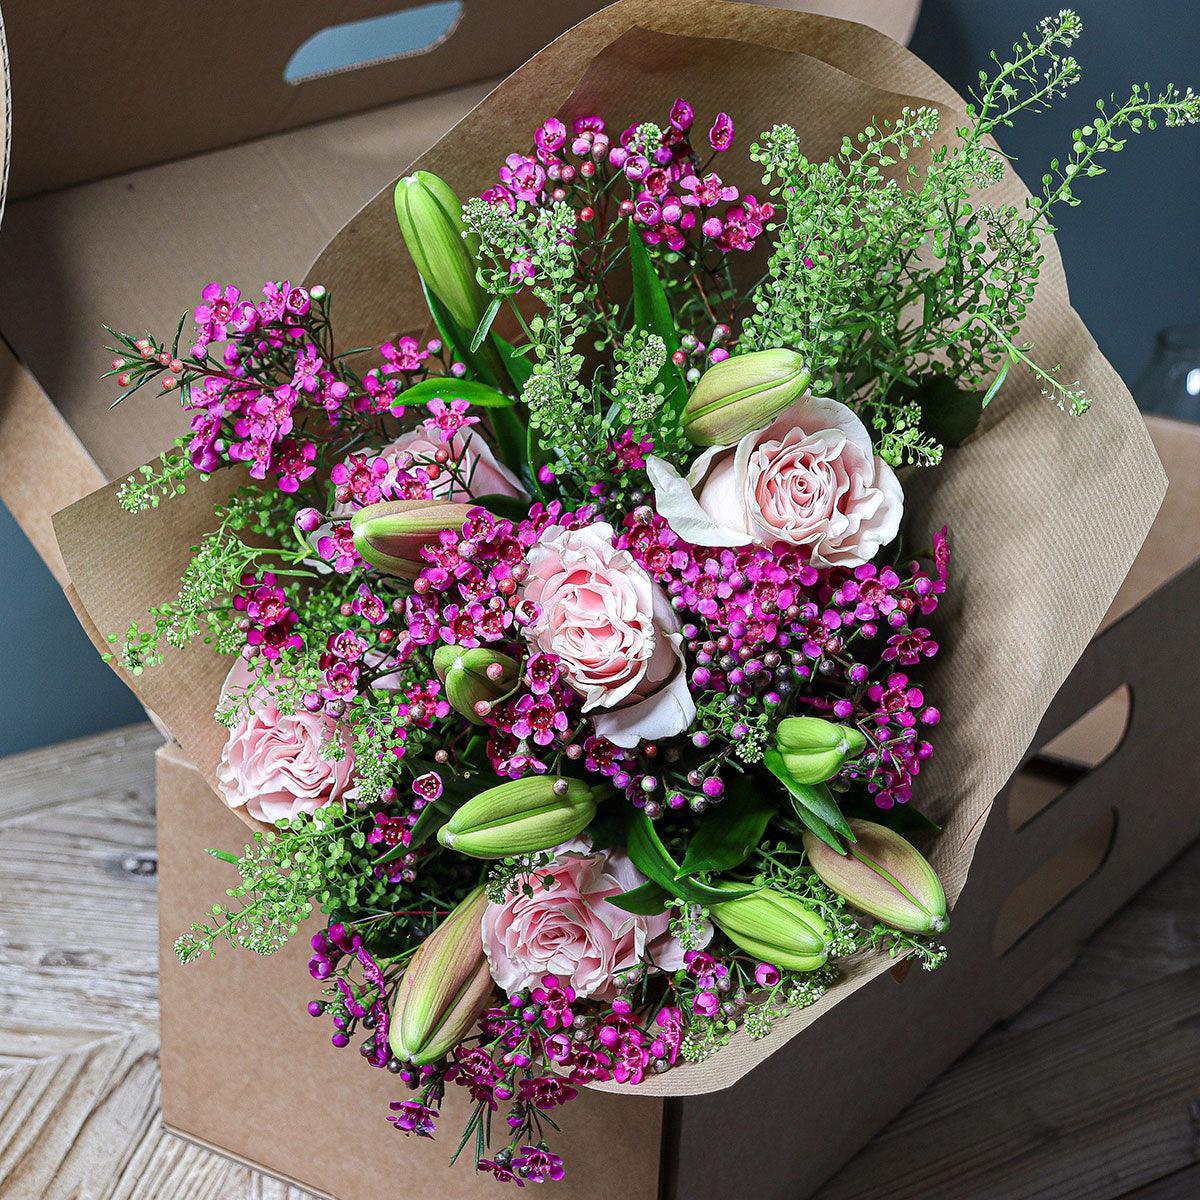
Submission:
MULTIPOLYGON (((1160 418, 1150 427, 1171 480, 1166 503, 1104 630, 997 797, 946 965, 914 978, 905 965, 895 982, 859 989, 727 1091, 586 1093, 563 1114, 570 1175, 557 1195, 727 1200, 746 1194, 752 1162, 756 1200, 803 1200, 1200 836, 1194 757, 1160 752, 1198 733, 1194 709, 1176 697, 1192 686, 1192 655, 1180 650, 1200 644, 1200 427, 1160 418)), ((158 755, 158 829, 167 1127, 336 1200, 394 1200, 426 1186, 490 1195, 469 1166, 446 1171, 445 1141, 380 1138, 386 1102, 403 1090, 353 1049, 335 1051, 305 1014, 314 985, 302 937, 270 960, 222 950, 211 964, 178 965, 175 937, 229 886, 229 869, 203 851, 235 846, 246 830, 169 745, 158 755), (295 1118, 317 1110, 319 1144, 295 1118)), ((456 1116, 448 1105, 448 1129, 456 1116)))

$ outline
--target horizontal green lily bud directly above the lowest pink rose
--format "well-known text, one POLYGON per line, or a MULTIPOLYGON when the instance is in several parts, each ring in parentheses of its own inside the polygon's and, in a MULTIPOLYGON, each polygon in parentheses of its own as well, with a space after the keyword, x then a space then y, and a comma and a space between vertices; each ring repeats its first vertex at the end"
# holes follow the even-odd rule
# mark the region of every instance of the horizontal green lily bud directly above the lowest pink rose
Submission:
POLYGON ((582 780, 529 775, 472 797, 438 830, 438 841, 472 858, 532 854, 581 834, 595 811, 582 780))

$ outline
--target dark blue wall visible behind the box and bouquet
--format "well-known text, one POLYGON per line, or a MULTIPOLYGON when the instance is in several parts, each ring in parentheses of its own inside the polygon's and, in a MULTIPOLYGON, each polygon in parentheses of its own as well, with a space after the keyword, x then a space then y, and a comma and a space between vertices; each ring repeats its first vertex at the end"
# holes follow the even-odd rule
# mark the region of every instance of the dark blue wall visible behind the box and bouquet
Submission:
MULTIPOLYGON (((1079 0, 1075 48, 1084 82, 1051 114, 1002 138, 1018 170, 1037 180, 1086 122, 1099 95, 1134 79, 1200 84, 1200 0, 1079 0)), ((960 91, 988 52, 1057 11, 1057 0, 925 0, 913 49, 960 91)), ((1130 140, 1114 170, 1087 180, 1081 208, 1058 234, 1075 307, 1133 383, 1156 331, 1200 320, 1200 128, 1130 140)), ((0 509, 0 754, 137 720, 140 709, 103 666, 61 592, 0 509)))

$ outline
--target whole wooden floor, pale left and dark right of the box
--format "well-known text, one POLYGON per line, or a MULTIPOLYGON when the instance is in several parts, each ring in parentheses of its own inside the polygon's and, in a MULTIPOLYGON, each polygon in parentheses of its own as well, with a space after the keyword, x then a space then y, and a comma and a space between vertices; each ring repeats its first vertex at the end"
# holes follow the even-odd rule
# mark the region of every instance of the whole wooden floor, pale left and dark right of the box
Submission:
MULTIPOLYGON (((2 1200, 307 1200, 158 1128, 158 740, 0 760, 2 1200)), ((820 1200, 884 1196, 1200 1200, 1200 846, 820 1200)))

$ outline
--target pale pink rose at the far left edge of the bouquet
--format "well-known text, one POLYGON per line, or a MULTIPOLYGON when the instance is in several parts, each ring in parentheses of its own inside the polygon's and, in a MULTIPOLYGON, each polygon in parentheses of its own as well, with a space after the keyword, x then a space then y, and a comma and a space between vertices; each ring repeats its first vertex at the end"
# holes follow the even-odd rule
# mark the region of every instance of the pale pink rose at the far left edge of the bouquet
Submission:
MULTIPOLYGON (((239 659, 221 689, 222 700, 240 696, 253 680, 239 659)), ((322 755, 325 743, 338 736, 332 718, 304 709, 286 715, 262 688, 247 703, 250 710, 229 731, 217 767, 229 808, 245 805, 252 817, 274 824, 353 794, 353 749, 346 745, 338 760, 322 755)))

